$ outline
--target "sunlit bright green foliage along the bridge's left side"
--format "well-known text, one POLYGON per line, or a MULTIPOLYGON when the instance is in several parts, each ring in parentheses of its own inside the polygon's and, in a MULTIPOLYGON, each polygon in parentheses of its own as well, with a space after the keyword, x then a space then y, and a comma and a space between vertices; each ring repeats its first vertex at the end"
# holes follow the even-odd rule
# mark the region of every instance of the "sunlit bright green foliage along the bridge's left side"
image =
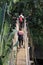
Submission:
POLYGON ((12 38, 14 36, 14 31, 10 32, 10 26, 7 21, 5 21, 4 24, 4 31, 3 31, 3 37, 2 41, 0 41, 1 44, 1 56, 3 57, 2 62, 4 64, 8 64, 8 55, 10 54, 10 50, 12 49, 12 38), (7 58, 7 59, 6 59, 7 58))

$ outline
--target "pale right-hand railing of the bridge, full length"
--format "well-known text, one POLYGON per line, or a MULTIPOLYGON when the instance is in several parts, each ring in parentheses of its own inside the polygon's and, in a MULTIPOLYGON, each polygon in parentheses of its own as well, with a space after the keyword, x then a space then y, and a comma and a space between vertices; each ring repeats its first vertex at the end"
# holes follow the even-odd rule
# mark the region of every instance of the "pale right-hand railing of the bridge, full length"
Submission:
POLYGON ((28 36, 27 36, 27 27, 26 27, 26 20, 24 21, 24 38, 25 38, 25 50, 26 50, 26 65, 31 65, 31 63, 33 63, 33 61, 30 60, 30 47, 28 46, 28 36))

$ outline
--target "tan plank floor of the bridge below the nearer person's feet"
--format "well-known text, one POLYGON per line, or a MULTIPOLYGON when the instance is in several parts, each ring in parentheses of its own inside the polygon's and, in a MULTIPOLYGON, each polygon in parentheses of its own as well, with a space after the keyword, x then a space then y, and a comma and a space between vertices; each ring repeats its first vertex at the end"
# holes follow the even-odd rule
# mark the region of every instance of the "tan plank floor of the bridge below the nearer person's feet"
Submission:
POLYGON ((17 65, 26 65, 25 48, 20 48, 17 53, 17 65))

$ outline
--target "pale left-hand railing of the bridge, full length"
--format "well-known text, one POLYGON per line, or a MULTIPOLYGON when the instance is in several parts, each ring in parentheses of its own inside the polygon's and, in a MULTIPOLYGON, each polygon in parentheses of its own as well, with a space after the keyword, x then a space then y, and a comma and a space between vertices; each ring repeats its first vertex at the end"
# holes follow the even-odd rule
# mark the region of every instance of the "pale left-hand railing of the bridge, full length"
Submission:
POLYGON ((18 46, 18 20, 17 20, 17 24, 16 24, 16 28, 15 28, 15 34, 14 34, 14 38, 13 38, 13 47, 10 53, 10 58, 9 58, 9 63, 8 65, 16 65, 17 63, 17 46, 18 46))

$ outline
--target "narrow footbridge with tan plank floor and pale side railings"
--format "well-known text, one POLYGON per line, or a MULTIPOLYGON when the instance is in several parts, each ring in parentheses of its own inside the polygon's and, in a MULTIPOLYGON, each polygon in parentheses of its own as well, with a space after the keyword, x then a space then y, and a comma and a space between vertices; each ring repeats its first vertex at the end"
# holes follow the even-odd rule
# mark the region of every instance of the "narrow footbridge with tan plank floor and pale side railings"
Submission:
POLYGON ((18 48, 18 35, 17 32, 19 30, 19 20, 16 23, 16 33, 13 38, 13 47, 10 53, 10 59, 8 65, 31 65, 34 64, 33 60, 30 60, 30 47, 28 46, 28 36, 27 36, 27 26, 26 26, 26 19, 24 20, 24 47, 25 48, 18 48))

